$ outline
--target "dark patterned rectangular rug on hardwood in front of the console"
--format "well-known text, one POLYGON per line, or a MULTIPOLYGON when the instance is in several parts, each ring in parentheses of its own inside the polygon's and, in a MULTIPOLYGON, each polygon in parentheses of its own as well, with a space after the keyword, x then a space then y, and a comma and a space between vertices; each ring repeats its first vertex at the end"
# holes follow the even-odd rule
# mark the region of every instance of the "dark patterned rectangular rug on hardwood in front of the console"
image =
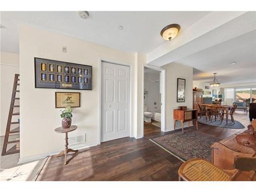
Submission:
POLYGON ((198 131, 186 130, 184 134, 178 131, 150 140, 184 162, 191 158, 211 161, 210 146, 221 139, 198 131))

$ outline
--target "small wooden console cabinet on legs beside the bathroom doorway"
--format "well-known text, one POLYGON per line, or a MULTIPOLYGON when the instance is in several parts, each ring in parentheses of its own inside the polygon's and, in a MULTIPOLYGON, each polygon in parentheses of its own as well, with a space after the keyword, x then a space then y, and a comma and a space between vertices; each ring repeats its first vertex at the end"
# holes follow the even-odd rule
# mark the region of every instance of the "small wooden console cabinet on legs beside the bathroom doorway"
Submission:
POLYGON ((188 126, 189 126, 189 121, 196 121, 197 125, 197 130, 198 130, 198 122, 197 122, 197 110, 194 109, 187 109, 187 110, 174 110, 174 130, 176 128, 176 121, 181 122, 181 127, 182 127, 182 133, 184 134, 184 122, 188 121, 188 126))

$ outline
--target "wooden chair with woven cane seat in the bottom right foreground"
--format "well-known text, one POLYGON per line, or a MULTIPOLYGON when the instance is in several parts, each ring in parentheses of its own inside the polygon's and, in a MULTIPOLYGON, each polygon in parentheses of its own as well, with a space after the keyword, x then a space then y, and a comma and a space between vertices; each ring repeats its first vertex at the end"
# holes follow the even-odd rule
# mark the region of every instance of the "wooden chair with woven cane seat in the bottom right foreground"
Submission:
MULTIPOLYGON (((256 151, 256 142, 252 147, 256 151)), ((234 158, 233 170, 222 170, 204 159, 191 159, 184 162, 178 171, 179 181, 236 181, 242 172, 252 174, 248 178, 256 181, 256 152, 253 157, 234 158)))

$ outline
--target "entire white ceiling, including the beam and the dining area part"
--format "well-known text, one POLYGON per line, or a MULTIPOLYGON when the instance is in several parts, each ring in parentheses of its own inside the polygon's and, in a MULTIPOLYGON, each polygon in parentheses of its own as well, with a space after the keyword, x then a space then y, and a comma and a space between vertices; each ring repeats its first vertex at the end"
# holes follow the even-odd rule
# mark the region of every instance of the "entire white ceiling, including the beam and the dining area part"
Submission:
POLYGON ((256 12, 239 11, 77 11, 1 12, 1 51, 19 52, 19 25, 25 24, 96 44, 147 55, 147 65, 178 62, 194 68, 194 80, 256 82, 256 12), (160 36, 178 23, 176 38, 160 36), (123 30, 118 27, 122 26, 123 30), (237 65, 230 65, 233 61, 237 65))

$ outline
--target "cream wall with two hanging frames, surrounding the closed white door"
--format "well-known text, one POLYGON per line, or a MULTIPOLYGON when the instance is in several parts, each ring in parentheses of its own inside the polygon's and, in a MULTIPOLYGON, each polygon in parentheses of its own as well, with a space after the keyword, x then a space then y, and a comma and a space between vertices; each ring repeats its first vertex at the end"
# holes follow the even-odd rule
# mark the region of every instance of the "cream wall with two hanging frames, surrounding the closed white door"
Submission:
MULTIPOLYGON (((19 29, 19 60, 20 60, 20 158, 48 154, 59 151, 64 145, 64 135, 56 134, 54 129, 60 126, 59 109, 55 109, 56 91, 80 92, 81 107, 74 108, 72 123, 78 129, 71 136, 86 134, 85 145, 94 145, 98 141, 98 65, 99 57, 131 63, 140 68, 144 55, 123 52, 91 42, 58 35, 48 31, 20 26, 19 29), (62 46, 67 53, 62 53, 62 46), (56 90, 34 88, 34 57, 55 59, 93 66, 93 90, 56 90)), ((143 61, 144 62, 144 61, 143 61)), ((142 66, 142 67, 141 67, 142 66)), ((140 68, 134 84, 142 81, 140 68)), ((134 67, 134 73, 135 73, 134 67)), ((137 89, 139 89, 137 87, 137 89)), ((141 89, 141 88, 140 88, 141 89)), ((135 91, 134 91, 135 92, 135 91)), ((142 93, 136 96, 141 97, 142 93)), ((141 99, 140 99, 141 100, 141 99)), ((141 103, 138 98, 138 103, 141 103)), ((137 109, 134 104, 134 111, 137 109)), ((140 114, 138 112, 138 114, 140 114)), ((136 114, 136 115, 138 115, 136 114)), ((137 119, 139 122, 139 119, 137 119)), ((141 120, 142 121, 142 120, 141 120)), ((137 124, 137 123, 136 123, 137 124)), ((135 130, 137 131, 137 130, 135 130)), ((141 134, 138 133, 137 134, 141 134)))

